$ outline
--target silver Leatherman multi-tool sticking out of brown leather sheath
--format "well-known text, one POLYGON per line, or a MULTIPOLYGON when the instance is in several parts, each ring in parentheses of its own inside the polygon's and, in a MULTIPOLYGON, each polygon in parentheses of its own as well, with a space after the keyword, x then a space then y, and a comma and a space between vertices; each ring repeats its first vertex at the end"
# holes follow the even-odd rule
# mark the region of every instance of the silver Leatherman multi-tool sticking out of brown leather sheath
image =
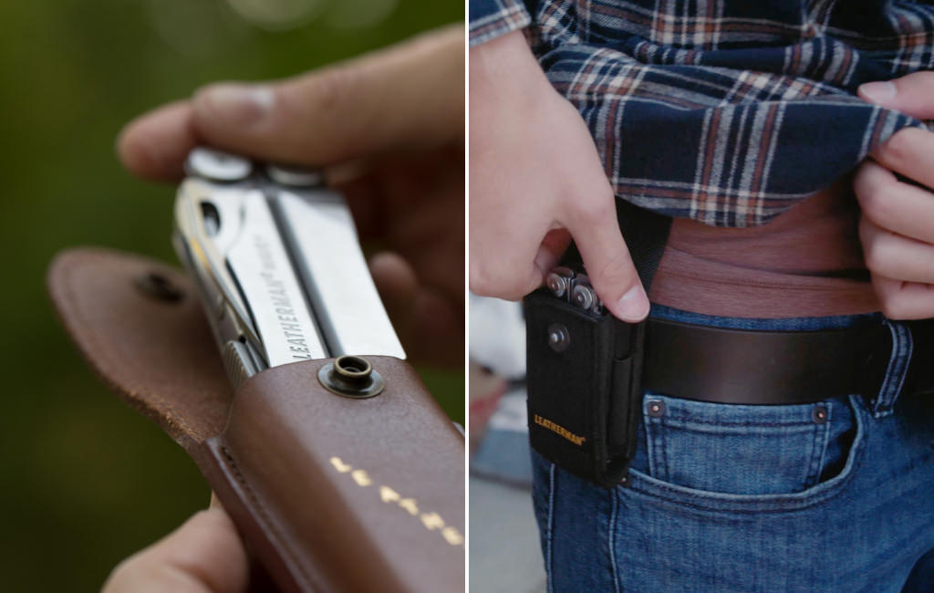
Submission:
POLYGON ((404 359, 347 203, 318 172, 208 148, 185 168, 175 247, 234 385, 299 360, 404 359))

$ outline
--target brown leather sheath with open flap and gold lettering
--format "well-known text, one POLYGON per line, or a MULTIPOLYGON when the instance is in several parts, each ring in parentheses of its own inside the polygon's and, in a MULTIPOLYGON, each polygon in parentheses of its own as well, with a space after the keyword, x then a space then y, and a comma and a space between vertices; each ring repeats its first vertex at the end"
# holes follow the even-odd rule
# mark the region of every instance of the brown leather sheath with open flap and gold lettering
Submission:
POLYGON ((191 455, 281 590, 463 590, 463 437, 403 360, 367 357, 386 379, 370 399, 323 388, 329 360, 234 390, 177 270, 76 248, 49 290, 94 370, 191 455))

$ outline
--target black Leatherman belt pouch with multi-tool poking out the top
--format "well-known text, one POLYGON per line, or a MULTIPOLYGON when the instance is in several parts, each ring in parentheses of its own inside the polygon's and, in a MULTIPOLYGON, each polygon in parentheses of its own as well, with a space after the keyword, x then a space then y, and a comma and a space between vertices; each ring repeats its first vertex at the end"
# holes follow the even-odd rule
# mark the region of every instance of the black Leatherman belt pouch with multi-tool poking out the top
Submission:
POLYGON ((625 479, 642 402, 644 323, 601 304, 582 266, 554 268, 525 300, 531 446, 603 487, 625 479))

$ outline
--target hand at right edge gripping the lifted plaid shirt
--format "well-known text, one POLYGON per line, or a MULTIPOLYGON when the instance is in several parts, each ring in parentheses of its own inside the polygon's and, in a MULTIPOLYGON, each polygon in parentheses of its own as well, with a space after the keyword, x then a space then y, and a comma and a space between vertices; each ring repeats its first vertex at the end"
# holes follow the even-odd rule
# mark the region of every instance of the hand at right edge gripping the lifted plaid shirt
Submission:
MULTIPOLYGON (((929 120, 934 118, 934 72, 865 84, 859 96, 929 120)), ((901 130, 871 157, 859 167, 854 190, 873 289, 888 318, 934 317, 934 134, 901 130)))

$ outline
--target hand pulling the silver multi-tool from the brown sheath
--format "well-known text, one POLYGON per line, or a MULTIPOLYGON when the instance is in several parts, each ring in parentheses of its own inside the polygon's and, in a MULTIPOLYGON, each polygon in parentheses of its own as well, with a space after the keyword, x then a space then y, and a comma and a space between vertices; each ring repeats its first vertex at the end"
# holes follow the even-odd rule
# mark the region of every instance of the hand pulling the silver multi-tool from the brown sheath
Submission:
POLYGON ((191 148, 327 167, 409 357, 463 364, 463 31, 422 35, 297 78, 215 84, 120 134, 137 176, 175 181, 191 148))

